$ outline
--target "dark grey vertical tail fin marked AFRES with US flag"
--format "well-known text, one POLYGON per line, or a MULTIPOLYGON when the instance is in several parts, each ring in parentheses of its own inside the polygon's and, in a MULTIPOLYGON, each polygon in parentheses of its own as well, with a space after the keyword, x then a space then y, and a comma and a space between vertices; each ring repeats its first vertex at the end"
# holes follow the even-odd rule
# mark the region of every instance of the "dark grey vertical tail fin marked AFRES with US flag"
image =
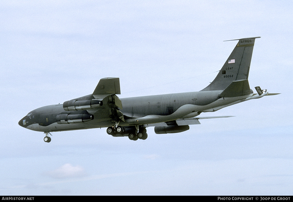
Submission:
MULTIPOLYGON (((255 38, 241 38, 217 77, 201 91, 224 90, 231 82, 247 80, 255 38)), ((228 40, 228 41, 235 41, 228 40)))

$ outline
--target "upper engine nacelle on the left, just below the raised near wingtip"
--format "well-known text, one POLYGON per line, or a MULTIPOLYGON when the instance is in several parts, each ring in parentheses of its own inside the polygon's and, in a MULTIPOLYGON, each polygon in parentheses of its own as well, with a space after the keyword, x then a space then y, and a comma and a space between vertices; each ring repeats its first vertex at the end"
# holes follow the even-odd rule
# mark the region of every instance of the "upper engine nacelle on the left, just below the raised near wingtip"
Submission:
POLYGON ((63 103, 65 111, 89 110, 103 105, 102 100, 69 100, 63 103))

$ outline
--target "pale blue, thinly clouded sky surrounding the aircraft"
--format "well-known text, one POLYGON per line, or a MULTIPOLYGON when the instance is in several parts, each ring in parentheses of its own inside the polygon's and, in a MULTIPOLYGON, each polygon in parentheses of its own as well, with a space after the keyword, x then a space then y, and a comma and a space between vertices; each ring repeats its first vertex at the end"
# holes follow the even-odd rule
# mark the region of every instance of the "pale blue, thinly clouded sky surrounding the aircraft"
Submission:
MULTIPOLYGON (((0 1, 0 195, 292 195, 292 1, 0 1), (201 125, 131 141, 106 128, 44 134, 28 112, 91 94, 199 91, 238 38, 266 96, 201 125)), ((254 90, 255 91, 255 90, 254 90)))

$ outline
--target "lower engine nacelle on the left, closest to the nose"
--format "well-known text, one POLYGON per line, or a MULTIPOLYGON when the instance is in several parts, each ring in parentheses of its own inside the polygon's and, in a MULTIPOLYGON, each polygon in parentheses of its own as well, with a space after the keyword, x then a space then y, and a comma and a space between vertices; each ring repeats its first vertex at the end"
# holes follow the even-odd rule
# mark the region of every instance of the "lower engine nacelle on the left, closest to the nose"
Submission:
POLYGON ((58 124, 82 123, 93 119, 92 114, 59 114, 56 116, 58 124))

